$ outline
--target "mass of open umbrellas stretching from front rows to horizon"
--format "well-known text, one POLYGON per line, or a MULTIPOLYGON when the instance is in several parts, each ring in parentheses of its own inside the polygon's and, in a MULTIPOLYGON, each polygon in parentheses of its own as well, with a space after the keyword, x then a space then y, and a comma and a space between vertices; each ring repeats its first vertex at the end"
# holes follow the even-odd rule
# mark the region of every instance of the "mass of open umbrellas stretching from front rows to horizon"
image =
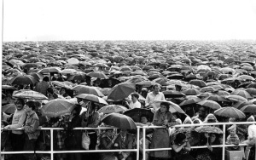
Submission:
POLYGON ((256 112, 255 60, 253 42, 3 43, 2 111, 13 114, 21 98, 42 103, 45 116, 59 117, 87 100, 108 114, 102 122, 136 129, 143 113, 154 117, 145 100, 158 84, 182 121, 201 106, 219 119, 243 119, 256 112), (34 90, 45 76, 58 95, 54 100, 34 90), (125 98, 135 92, 142 108, 128 109, 125 98))

